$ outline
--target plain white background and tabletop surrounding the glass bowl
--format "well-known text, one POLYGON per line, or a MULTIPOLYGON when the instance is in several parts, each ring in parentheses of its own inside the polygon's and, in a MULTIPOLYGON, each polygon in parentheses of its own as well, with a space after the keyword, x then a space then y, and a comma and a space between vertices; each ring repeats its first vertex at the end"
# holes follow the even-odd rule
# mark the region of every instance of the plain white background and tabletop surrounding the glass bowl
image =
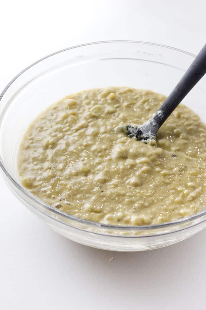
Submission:
MULTIPOLYGON (((54 51, 101 40, 139 40, 197 54, 206 2, 1 2, 0 90, 54 51)), ((51 231, 0 177, 0 309, 205 309, 206 230, 148 252, 115 253, 51 231), (109 261, 111 257, 112 261, 109 261)))

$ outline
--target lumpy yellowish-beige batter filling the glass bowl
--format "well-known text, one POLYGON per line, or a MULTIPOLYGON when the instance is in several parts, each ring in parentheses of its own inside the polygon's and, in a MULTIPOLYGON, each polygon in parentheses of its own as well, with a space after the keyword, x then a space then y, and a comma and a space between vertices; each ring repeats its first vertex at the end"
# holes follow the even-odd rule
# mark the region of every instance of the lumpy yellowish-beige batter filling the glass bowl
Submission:
POLYGON ((55 208, 105 224, 158 224, 203 210, 206 125, 196 113, 180 104, 156 146, 114 131, 143 124, 165 98, 109 87, 62 99, 24 135, 22 184, 55 208))

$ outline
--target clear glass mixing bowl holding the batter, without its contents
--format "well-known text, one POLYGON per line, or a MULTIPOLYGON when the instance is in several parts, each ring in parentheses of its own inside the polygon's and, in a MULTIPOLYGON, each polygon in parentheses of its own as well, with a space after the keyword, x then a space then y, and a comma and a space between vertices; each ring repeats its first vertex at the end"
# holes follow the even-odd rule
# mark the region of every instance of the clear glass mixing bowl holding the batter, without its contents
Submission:
MULTIPOLYGON (((95 87, 129 86, 169 95, 194 55, 164 45, 134 41, 83 44, 58 51, 20 72, 0 95, 0 170, 15 196, 61 235, 116 251, 168 246, 206 226, 206 210, 170 223, 105 225, 65 214, 29 193, 20 183, 17 154, 28 125, 62 97, 95 87)), ((203 78, 183 103, 206 122, 203 78)))

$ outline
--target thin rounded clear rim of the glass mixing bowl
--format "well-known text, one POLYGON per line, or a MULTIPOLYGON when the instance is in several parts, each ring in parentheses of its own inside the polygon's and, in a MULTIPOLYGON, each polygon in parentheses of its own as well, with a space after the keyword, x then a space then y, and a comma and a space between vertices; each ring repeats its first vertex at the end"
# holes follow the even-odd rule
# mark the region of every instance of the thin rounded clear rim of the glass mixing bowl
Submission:
MULTIPOLYGON (((13 82, 15 82, 15 80, 17 78, 19 78, 24 72, 26 72, 28 69, 30 69, 31 67, 35 66, 36 64, 40 63, 41 61, 51 57, 51 56, 54 56, 56 54, 59 54, 59 53, 62 53, 64 51, 68 51, 68 50, 71 50, 71 49, 75 49, 75 48, 78 48, 78 47, 84 47, 84 46, 88 46, 88 45, 95 45, 95 44, 107 44, 107 43, 138 43, 138 44, 145 44, 145 45, 154 45, 154 46, 158 46, 158 47, 163 47, 163 48, 168 48, 170 50, 174 50, 174 51, 178 51, 178 52, 181 52, 181 53, 184 53, 184 54, 187 54, 187 55, 190 55, 192 57, 195 57, 194 54, 191 54, 187 51, 183 51, 181 49, 178 49, 178 48, 175 48, 175 47, 170 47, 168 45, 163 45, 163 44, 158 44, 158 43, 152 43, 152 42, 144 42, 144 41, 134 41, 134 40, 108 40, 108 41, 97 41, 97 42, 89 42, 89 43, 84 43, 84 44, 80 44, 80 45, 75 45, 75 46, 72 46, 72 47, 68 47, 68 48, 65 48, 65 49, 62 49, 62 50, 59 50, 59 51, 56 51, 54 53, 51 53, 45 57, 42 57, 41 59, 35 61, 33 64, 29 65, 28 67, 26 67, 25 69, 23 69, 22 71, 20 71, 20 73, 18 73, 8 84, 7 86, 3 89, 2 93, 0 94, 0 103, 1 103, 1 100, 4 96, 4 94, 6 93, 6 91, 8 90, 8 88, 13 84, 13 82)), ((11 104, 11 103, 10 103, 11 104)), ((1 128, 1 125, 2 125, 2 120, 3 120, 3 117, 8 109, 8 107, 10 106, 10 104, 6 105, 1 114, 0 114, 0 128, 1 128)), ((87 219, 83 219, 83 218, 80 218, 80 217, 76 217, 74 215, 70 215, 70 214, 67 214, 61 210, 58 210, 58 209, 55 209, 54 207, 48 205, 46 202, 40 200, 39 198, 37 198, 36 196, 34 196, 33 194, 31 194, 29 191, 27 191, 23 186, 21 186, 20 184, 18 184, 15 179, 9 174, 9 172, 7 171, 5 165, 4 165, 4 162, 2 160, 2 157, 0 156, 0 170, 2 170, 3 174, 6 176, 6 178, 14 185, 15 189, 16 190, 19 190, 23 196, 25 196, 26 198, 29 198, 30 200, 32 200, 33 202, 39 204, 41 207, 43 207, 43 209, 45 208, 46 210, 50 211, 51 213, 53 213, 54 215, 60 215, 61 217, 64 217, 66 219, 71 219, 72 221, 74 222, 77 222, 77 223, 82 223, 82 224, 87 224, 87 225, 90 225, 90 226, 96 226, 98 228, 108 228, 108 229, 114 229, 114 230, 132 230, 132 231, 136 231, 136 230, 140 230, 140 231, 147 231, 147 230, 152 230, 152 229, 160 229, 160 228, 169 228, 169 227, 172 227, 172 226, 175 226, 175 225, 178 225, 178 224, 186 224, 192 220, 195 220, 195 219, 199 219, 201 218, 202 216, 206 215, 206 210, 203 210, 201 212, 198 212, 198 213, 195 213, 194 215, 191 215, 191 216, 188 216, 188 217, 184 217, 182 219, 178 219, 178 220, 175 220, 175 221, 171 221, 171 222, 165 222, 165 223, 161 223, 161 224, 152 224, 152 225, 135 225, 135 226, 126 226, 126 225, 109 225, 109 224, 102 224, 102 223, 98 223, 98 222, 94 222, 94 221, 90 221, 90 220, 87 220, 87 219)), ((15 190, 15 191, 16 191, 15 190)), ((71 226, 71 224, 68 224, 66 222, 63 222, 61 220, 59 220, 59 218, 55 218, 53 216, 51 216, 50 214, 46 213, 46 212, 42 212, 40 211, 39 209, 37 209, 36 207, 32 206, 33 208, 35 208, 36 210, 38 210, 39 212, 43 213, 44 215, 54 219, 54 220, 57 220, 57 221, 60 221, 61 223, 65 224, 65 225, 68 225, 68 226, 71 226)), ((73 227, 73 226, 72 226, 73 227)), ((74 226, 75 227, 75 226, 74 226)), ((189 227, 189 226, 188 226, 189 227)), ((83 229, 85 230, 85 229, 83 229)), ((136 236, 138 237, 138 236, 136 236)))

